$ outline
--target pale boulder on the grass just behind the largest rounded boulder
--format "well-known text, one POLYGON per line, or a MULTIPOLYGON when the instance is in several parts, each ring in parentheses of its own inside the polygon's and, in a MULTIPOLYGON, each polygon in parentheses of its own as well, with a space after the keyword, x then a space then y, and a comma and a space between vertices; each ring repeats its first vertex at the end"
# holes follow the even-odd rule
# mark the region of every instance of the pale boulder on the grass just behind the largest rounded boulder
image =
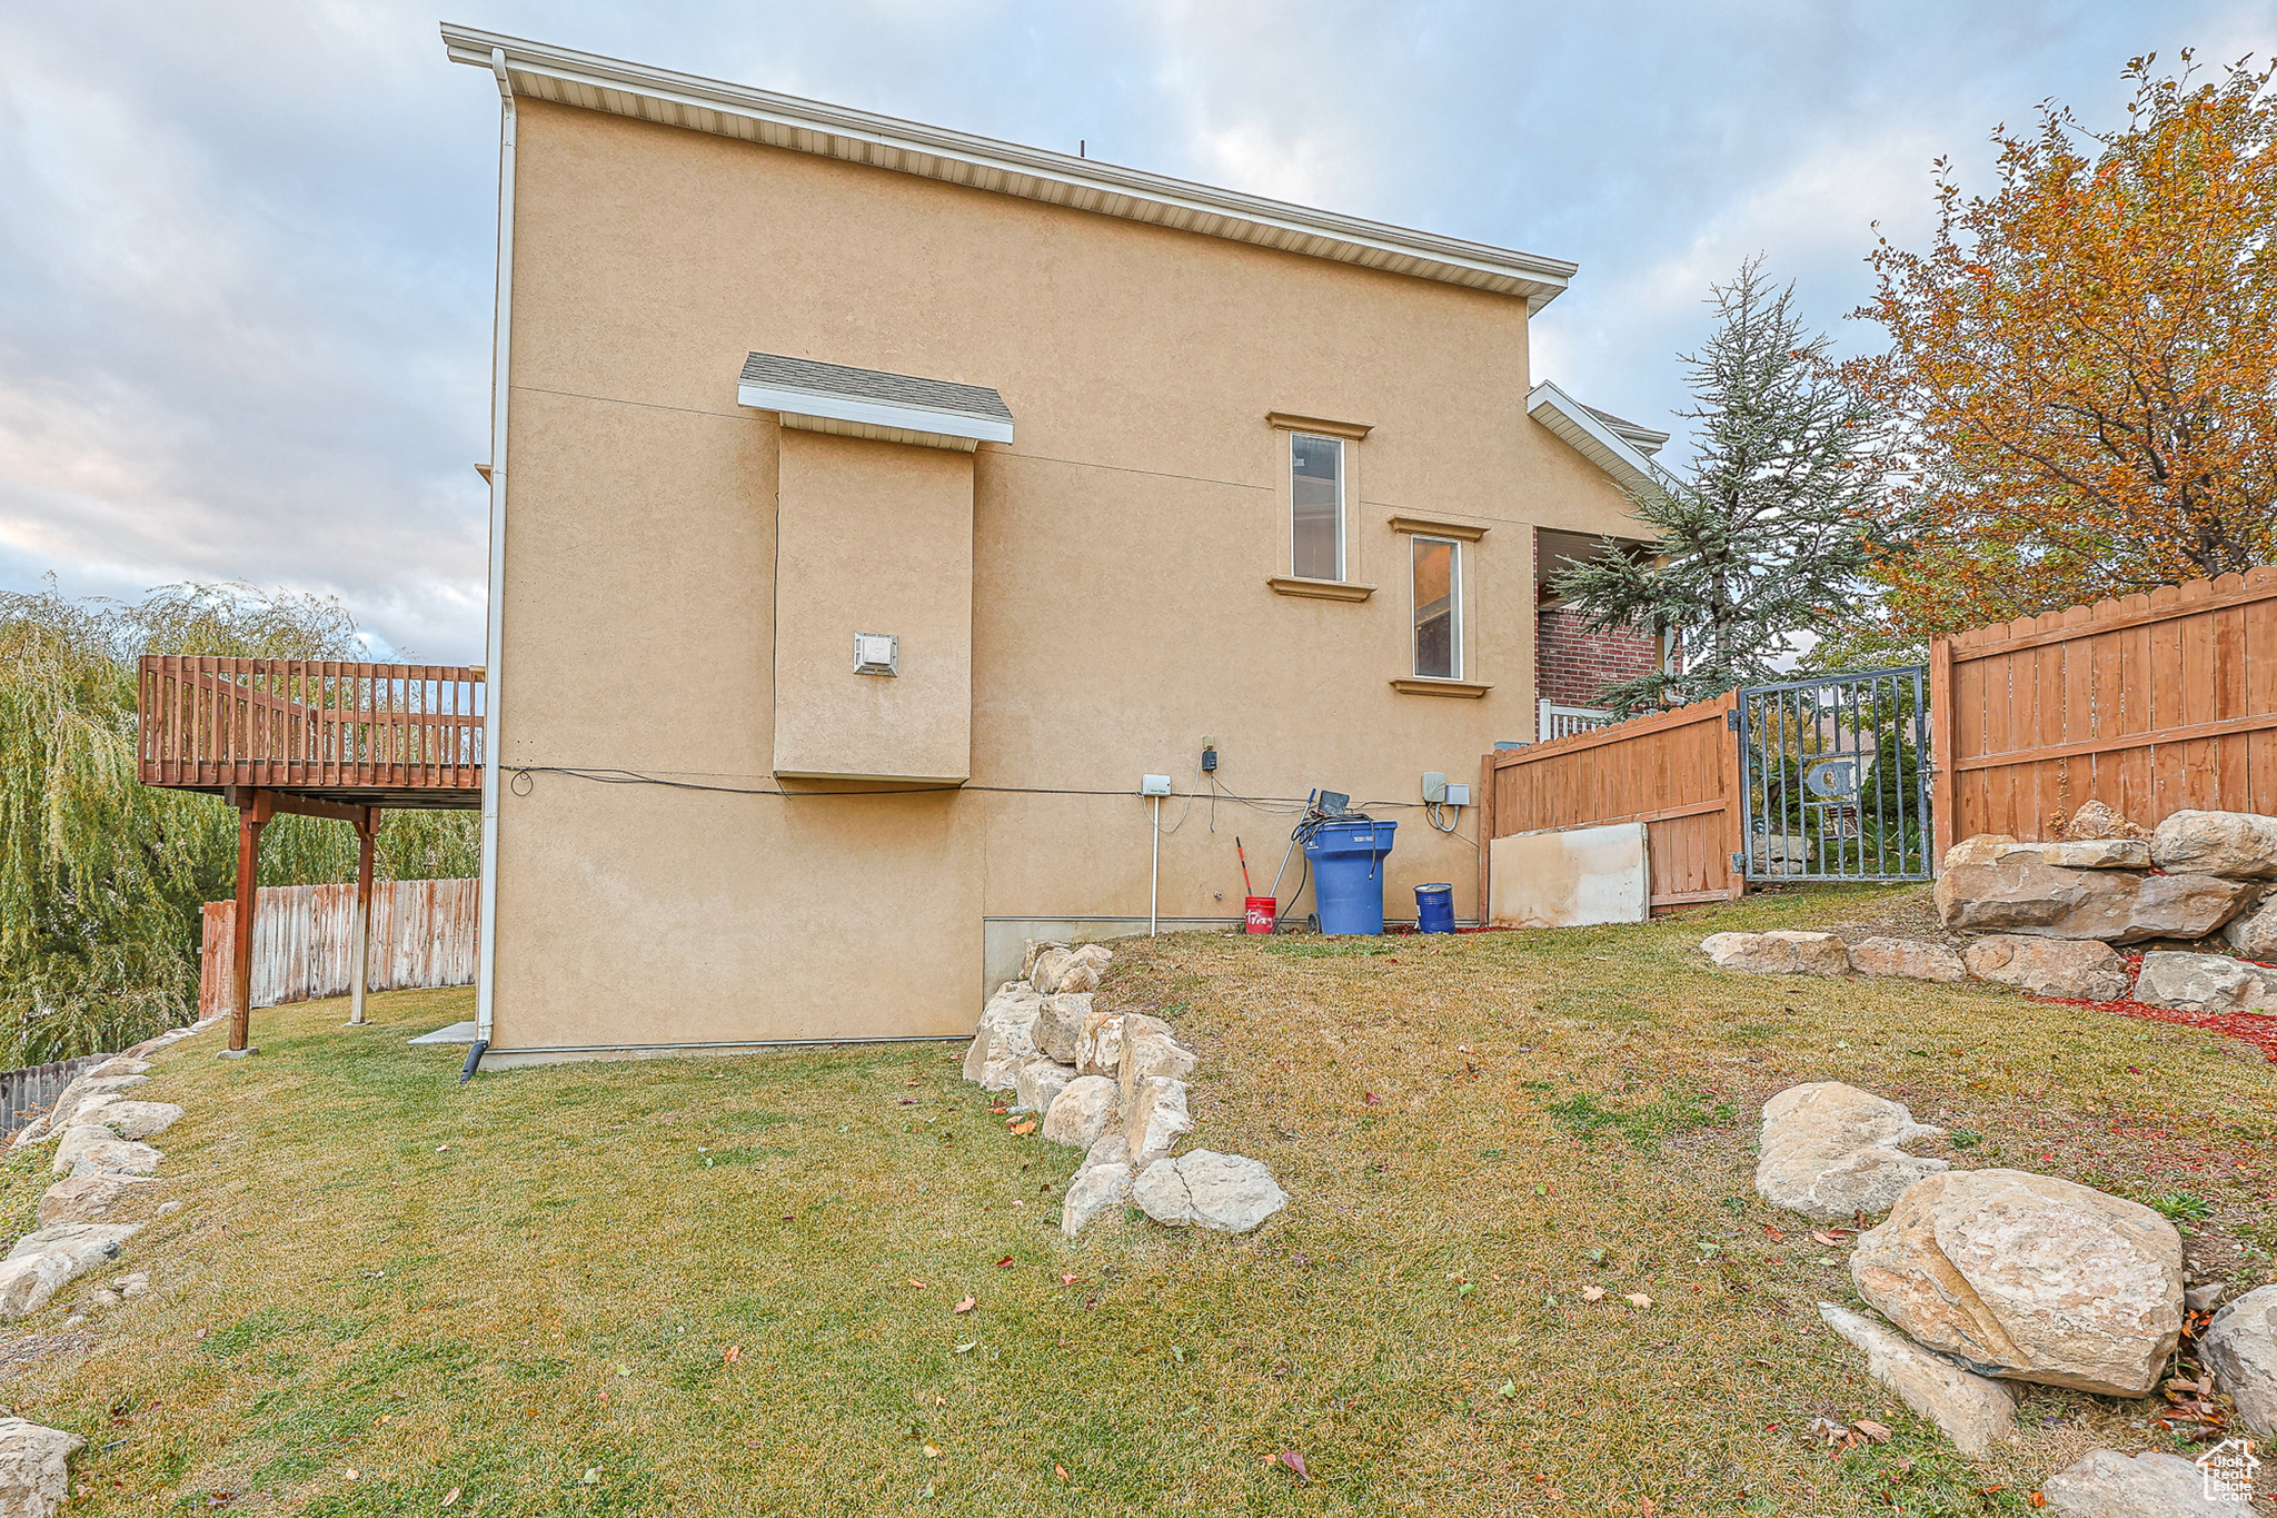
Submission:
POLYGON ((1942 1131, 1842 1081, 1790 1086, 1762 1104, 1756 1190, 1772 1206, 1822 1222, 1879 1213, 1908 1186, 1947 1168, 1947 1161, 1899 1149, 1942 1131))

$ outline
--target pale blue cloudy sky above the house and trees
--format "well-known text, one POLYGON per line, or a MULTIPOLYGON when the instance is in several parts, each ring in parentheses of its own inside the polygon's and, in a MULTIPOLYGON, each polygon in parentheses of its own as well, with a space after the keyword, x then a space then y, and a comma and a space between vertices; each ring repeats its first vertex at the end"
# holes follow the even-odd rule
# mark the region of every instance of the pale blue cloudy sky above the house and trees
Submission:
POLYGON ((2277 0, 0 0, 0 587, 480 658, 496 91, 446 18, 1578 259, 1537 378, 1655 426, 1742 257, 1853 350, 1931 159, 2277 50, 2277 0))

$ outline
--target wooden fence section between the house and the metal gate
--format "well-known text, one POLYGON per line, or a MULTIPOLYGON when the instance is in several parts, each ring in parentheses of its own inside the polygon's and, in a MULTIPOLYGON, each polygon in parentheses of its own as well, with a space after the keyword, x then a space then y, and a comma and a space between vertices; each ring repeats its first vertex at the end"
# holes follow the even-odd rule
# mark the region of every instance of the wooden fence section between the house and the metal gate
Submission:
MULTIPOLYGON (((1721 901, 1740 894, 1731 856, 1742 849, 1740 744, 1733 712, 1740 699, 1635 717, 1532 749, 1498 749, 1485 758, 1480 838, 1544 828, 1642 822, 1651 865, 1651 904, 1721 901)), ((1478 899, 1491 901, 1491 849, 1478 851, 1478 899)))

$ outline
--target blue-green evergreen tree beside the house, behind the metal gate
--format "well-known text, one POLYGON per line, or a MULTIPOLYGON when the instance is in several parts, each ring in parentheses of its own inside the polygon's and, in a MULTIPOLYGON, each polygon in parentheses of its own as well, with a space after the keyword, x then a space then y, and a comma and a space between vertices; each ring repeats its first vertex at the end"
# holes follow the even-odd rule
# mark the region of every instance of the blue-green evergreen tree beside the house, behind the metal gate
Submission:
MULTIPOLYGON (((1844 626, 1869 553, 1894 523, 1883 508, 1881 416, 1806 332, 1794 287, 1774 289, 1762 259, 1715 284, 1717 330, 1685 355, 1699 423, 1692 467, 1630 492, 1658 530, 1651 555, 1614 551, 1555 576, 1592 633, 1671 637, 1680 669, 1598 694, 1612 710, 1699 701, 1778 678, 1824 628, 1844 626)), ((1674 665, 1676 660, 1671 660, 1674 665)))

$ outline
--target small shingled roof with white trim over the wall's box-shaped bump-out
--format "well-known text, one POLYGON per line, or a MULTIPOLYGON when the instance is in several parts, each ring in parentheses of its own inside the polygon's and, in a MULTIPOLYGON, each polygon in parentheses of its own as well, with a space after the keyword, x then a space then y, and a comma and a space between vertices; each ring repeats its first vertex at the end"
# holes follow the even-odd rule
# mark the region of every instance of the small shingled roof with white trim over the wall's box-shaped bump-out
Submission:
POLYGON ((788 428, 972 451, 1011 442, 1011 407, 986 385, 920 380, 881 369, 781 353, 742 360, 735 403, 776 412, 788 428))

